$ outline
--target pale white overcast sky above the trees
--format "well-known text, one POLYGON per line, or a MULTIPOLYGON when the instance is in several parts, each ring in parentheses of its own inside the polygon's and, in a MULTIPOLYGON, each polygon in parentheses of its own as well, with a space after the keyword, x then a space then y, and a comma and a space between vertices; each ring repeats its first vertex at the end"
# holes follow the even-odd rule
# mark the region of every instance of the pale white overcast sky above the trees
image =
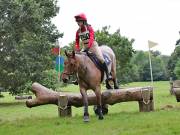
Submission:
POLYGON ((111 26, 122 36, 135 39, 135 50, 148 51, 148 40, 158 43, 151 50, 171 55, 180 38, 180 0, 58 0, 60 11, 52 22, 64 33, 61 46, 75 40, 74 16, 85 13, 94 30, 111 26))

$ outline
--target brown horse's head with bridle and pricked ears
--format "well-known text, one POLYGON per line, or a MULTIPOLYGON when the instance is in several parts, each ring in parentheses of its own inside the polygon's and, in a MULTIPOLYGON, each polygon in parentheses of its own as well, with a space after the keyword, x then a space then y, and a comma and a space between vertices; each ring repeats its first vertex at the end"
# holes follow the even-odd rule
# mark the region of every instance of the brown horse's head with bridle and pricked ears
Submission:
POLYGON ((67 59, 64 62, 62 80, 64 83, 67 83, 69 81, 70 76, 77 72, 77 61, 74 51, 72 51, 71 53, 67 53, 67 51, 65 50, 65 54, 67 56, 67 59))

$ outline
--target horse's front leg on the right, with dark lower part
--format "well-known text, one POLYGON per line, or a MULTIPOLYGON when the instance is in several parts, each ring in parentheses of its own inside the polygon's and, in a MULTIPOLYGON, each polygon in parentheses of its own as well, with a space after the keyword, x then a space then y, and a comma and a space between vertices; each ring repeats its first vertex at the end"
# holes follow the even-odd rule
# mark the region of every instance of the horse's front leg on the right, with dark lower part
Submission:
POLYGON ((103 113, 102 113, 102 103, 101 103, 101 86, 97 86, 95 90, 96 98, 97 98, 97 110, 99 119, 104 119, 103 113))

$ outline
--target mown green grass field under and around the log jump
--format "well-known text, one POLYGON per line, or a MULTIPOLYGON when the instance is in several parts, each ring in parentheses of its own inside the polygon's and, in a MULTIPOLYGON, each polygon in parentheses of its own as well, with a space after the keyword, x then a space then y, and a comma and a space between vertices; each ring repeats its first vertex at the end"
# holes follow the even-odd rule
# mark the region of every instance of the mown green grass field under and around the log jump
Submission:
MULTIPOLYGON (((136 82, 123 87, 148 86, 136 82)), ((100 121, 92 107, 90 122, 82 119, 83 108, 73 108, 73 117, 59 118, 57 106, 27 108, 8 93, 0 98, 0 135, 180 135, 180 103, 169 93, 169 82, 154 83, 154 112, 139 112, 137 102, 109 107, 109 114, 100 121)), ((63 90, 78 92, 76 86, 63 90)))

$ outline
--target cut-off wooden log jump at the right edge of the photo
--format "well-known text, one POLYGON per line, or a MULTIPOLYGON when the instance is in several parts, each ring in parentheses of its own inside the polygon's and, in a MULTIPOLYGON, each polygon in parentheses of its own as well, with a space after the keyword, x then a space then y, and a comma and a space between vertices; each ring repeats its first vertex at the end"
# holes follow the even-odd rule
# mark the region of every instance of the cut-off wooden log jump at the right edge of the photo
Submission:
POLYGON ((175 80, 172 82, 171 91, 175 95, 177 102, 180 102, 180 80, 175 80))

